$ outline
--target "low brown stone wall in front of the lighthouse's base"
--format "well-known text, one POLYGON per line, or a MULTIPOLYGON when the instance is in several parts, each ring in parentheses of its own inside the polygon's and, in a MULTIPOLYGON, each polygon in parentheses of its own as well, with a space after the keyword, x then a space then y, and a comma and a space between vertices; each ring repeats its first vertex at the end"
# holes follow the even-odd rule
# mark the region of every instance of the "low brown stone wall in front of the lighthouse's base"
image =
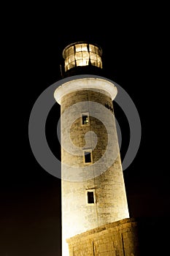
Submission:
POLYGON ((67 239, 70 256, 139 256, 135 219, 121 219, 67 239))

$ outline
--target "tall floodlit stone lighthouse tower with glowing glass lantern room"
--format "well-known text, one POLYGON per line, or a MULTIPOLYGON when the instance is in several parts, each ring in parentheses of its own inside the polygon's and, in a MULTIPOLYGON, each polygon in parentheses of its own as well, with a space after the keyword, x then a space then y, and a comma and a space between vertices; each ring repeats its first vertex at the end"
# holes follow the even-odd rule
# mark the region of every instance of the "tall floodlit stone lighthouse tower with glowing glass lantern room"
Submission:
POLYGON ((61 105, 63 256, 85 255, 71 252, 69 238, 129 218, 112 104, 117 88, 102 76, 101 57, 93 43, 66 46, 63 83, 54 92, 61 105))

